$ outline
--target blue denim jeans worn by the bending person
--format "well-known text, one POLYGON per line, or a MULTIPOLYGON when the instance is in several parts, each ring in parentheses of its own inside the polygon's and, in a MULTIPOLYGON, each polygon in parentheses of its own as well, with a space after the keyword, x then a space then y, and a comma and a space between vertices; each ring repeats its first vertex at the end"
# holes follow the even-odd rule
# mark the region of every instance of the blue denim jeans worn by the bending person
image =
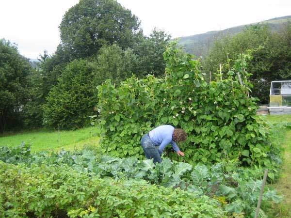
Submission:
POLYGON ((154 163, 161 163, 162 158, 161 155, 155 145, 155 143, 149 138, 149 135, 146 134, 142 137, 141 145, 143 147, 143 150, 145 152, 147 159, 154 159, 154 163))

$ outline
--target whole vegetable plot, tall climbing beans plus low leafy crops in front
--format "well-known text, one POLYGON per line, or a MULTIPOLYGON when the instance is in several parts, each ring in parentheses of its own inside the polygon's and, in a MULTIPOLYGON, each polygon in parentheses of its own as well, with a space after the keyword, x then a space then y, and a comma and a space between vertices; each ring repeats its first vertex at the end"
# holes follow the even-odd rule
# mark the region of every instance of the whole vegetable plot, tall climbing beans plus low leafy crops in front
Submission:
MULTIPOLYGON (((0 147, 0 216, 254 217, 264 170, 274 182, 282 165, 274 129, 290 124, 269 125, 256 116, 245 70, 249 54, 210 83, 200 62, 175 42, 164 58, 165 78, 98 87, 95 152, 0 147), (154 165, 144 160, 140 139, 161 124, 189 137, 180 144, 183 158, 167 150, 154 165)), ((263 205, 280 202, 275 190, 264 191, 263 205)))

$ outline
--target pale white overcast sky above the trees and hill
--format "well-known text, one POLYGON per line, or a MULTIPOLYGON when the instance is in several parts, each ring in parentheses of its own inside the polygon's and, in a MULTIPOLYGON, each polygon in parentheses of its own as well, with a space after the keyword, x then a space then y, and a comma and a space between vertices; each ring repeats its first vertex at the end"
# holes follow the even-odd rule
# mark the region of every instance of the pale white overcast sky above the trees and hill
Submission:
MULTIPOLYGON (((172 37, 257 23, 291 15, 291 0, 117 0, 142 22, 172 37)), ((16 43, 20 54, 36 59, 60 43, 59 25, 79 0, 0 0, 0 38, 16 43)))

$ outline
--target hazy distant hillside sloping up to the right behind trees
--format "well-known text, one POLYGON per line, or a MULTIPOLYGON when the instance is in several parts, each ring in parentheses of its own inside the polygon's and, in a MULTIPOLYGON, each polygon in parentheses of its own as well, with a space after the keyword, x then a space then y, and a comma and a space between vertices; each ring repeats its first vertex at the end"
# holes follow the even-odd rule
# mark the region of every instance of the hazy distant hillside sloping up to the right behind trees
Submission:
POLYGON ((242 26, 228 28, 222 31, 209 31, 202 34, 185 36, 179 38, 179 44, 182 45, 187 53, 194 54, 197 57, 205 56, 214 40, 221 38, 227 34, 234 35, 241 32, 250 25, 267 25, 271 31, 279 31, 284 24, 291 21, 291 16, 276 17, 264 20, 259 23, 246 24, 242 26))

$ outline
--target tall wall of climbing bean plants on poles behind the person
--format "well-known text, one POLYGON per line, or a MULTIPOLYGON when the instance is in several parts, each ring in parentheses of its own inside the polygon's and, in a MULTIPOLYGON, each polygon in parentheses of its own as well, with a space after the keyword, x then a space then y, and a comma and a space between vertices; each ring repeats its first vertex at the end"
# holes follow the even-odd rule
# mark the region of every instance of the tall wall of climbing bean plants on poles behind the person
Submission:
MULTIPOLYGON (((170 124, 189 136, 179 145, 185 157, 167 150, 166 156, 174 160, 195 164, 237 159, 239 164, 270 167, 267 160, 278 153, 268 141, 264 124, 258 123, 255 99, 247 96, 250 84, 245 68, 251 56, 242 55, 228 78, 209 84, 200 63, 180 54, 175 43, 164 58, 165 79, 130 78, 117 88, 108 80, 98 86, 102 151, 143 158, 141 137, 158 125, 170 124), (244 86, 234 72, 240 73, 244 86)), ((272 169, 276 164, 272 162, 272 169)))

